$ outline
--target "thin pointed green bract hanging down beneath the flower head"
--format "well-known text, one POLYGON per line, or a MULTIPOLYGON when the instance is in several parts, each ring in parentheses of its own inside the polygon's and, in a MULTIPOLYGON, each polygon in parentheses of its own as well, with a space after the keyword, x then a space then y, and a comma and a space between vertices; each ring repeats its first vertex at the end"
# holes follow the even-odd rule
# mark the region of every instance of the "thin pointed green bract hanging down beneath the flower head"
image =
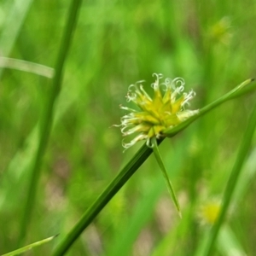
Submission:
POLYGON ((160 166, 160 169, 161 169, 162 174, 163 174, 163 176, 164 176, 164 179, 165 179, 165 181, 166 181, 167 189, 168 189, 170 195, 172 196, 172 201, 173 201, 175 207, 177 208, 177 212, 178 212, 180 218, 182 218, 182 214, 181 214, 181 211, 180 211, 179 203, 178 203, 178 201, 177 201, 177 196, 176 196, 176 194, 175 194, 175 191, 174 191, 174 189, 173 189, 173 187, 172 187, 172 183, 171 183, 171 181, 170 181, 170 179, 169 179, 169 177, 168 177, 168 174, 167 174, 167 172, 166 172, 166 167, 165 167, 165 165, 164 165, 164 163, 163 163, 163 160, 162 160, 162 158, 161 158, 161 155, 160 155, 160 151, 159 151, 159 148, 158 148, 158 145, 157 145, 156 138, 153 137, 152 140, 151 140, 151 142, 152 142, 152 146, 153 146, 152 149, 153 149, 153 152, 154 152, 155 159, 157 160, 157 162, 158 162, 158 164, 159 164, 159 166, 160 166))

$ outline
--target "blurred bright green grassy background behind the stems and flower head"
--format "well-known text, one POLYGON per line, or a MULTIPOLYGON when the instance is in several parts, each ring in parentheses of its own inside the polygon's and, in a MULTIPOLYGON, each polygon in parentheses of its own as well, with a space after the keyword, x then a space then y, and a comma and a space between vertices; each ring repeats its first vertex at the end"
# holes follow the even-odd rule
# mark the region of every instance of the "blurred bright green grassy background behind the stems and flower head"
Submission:
MULTIPOLYGON (((66 0, 0 2, 1 254, 17 248, 38 120, 52 76, 50 68, 39 67, 44 75, 4 68, 3 57, 54 67, 69 5, 66 0)), ((123 153, 121 133, 111 127, 124 115, 119 104, 127 105, 128 85, 145 79, 150 90, 152 73, 183 77, 185 90, 196 92, 190 108, 201 108, 255 77, 255 22, 252 0, 84 1, 26 244, 60 236, 26 255, 49 255, 140 147, 123 153)), ((150 157, 67 255, 203 255, 209 205, 222 199, 253 102, 255 94, 227 102, 161 144, 183 219, 150 157)), ((255 143, 216 255, 255 255, 255 143)))

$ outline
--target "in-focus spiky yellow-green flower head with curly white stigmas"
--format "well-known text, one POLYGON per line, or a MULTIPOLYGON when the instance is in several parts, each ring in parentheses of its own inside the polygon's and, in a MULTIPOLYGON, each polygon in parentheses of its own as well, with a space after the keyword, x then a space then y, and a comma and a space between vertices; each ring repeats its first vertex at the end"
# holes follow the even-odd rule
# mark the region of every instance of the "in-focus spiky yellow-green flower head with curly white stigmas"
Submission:
POLYGON ((165 137, 164 131, 167 128, 172 128, 198 113, 198 110, 185 109, 185 105, 189 104, 195 92, 183 92, 185 82, 182 78, 165 79, 160 83, 162 74, 154 73, 153 76, 156 77, 154 84, 151 84, 154 89, 153 98, 143 89, 144 81, 138 81, 129 86, 126 98, 127 102, 134 102, 139 110, 120 106, 121 109, 130 111, 121 118, 119 126, 123 135, 126 137, 137 134, 130 143, 123 141, 124 148, 130 148, 141 140, 146 140, 148 147, 151 147, 152 137, 165 137))

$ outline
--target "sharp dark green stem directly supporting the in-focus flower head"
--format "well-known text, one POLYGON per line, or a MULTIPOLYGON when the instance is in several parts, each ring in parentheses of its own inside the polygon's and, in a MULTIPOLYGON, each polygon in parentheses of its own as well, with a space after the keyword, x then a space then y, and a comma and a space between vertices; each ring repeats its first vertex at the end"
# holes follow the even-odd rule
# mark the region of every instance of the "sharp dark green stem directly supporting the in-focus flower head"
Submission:
MULTIPOLYGON (((159 142, 161 143, 161 141, 159 142)), ((61 256, 67 252, 68 248, 72 246, 73 242, 80 236, 84 229, 96 218, 97 214, 102 211, 103 207, 108 204, 119 189, 129 180, 137 169, 142 166, 143 162, 148 159, 148 156, 152 153, 152 149, 148 148, 146 144, 139 149, 137 154, 128 162, 128 164, 119 172, 119 174, 108 185, 107 189, 102 192, 96 201, 90 206, 90 208, 84 212, 82 218, 73 227, 73 229, 67 234, 59 246, 55 249, 53 256, 61 256)))

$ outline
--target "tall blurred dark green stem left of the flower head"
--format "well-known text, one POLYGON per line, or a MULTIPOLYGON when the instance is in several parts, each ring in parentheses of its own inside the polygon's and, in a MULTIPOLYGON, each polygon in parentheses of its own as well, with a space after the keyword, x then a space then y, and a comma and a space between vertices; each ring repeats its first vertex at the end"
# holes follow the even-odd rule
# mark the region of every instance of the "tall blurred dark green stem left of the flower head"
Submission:
POLYGON ((73 30, 76 25, 76 20, 79 13, 79 7, 82 0, 73 0, 69 9, 69 15, 67 18, 67 25, 64 30, 63 38, 61 40, 61 46, 59 54, 57 55, 57 60, 55 63, 55 77, 52 81, 52 86, 49 93, 49 100, 46 102, 44 112, 42 113, 42 118, 40 121, 40 137, 38 149, 35 154, 34 160, 31 166, 31 179, 29 183, 29 189, 26 196, 26 204, 23 212, 23 216, 20 222, 20 236, 19 236, 19 246, 26 238, 26 230, 32 218, 32 210, 34 207, 34 202, 37 194, 38 181, 40 177, 40 166, 41 161, 44 156, 44 151, 49 140, 49 133, 52 126, 52 119, 54 114, 55 100, 61 90, 61 79, 62 70, 67 57, 67 52, 71 44, 71 39, 73 35, 73 30))

